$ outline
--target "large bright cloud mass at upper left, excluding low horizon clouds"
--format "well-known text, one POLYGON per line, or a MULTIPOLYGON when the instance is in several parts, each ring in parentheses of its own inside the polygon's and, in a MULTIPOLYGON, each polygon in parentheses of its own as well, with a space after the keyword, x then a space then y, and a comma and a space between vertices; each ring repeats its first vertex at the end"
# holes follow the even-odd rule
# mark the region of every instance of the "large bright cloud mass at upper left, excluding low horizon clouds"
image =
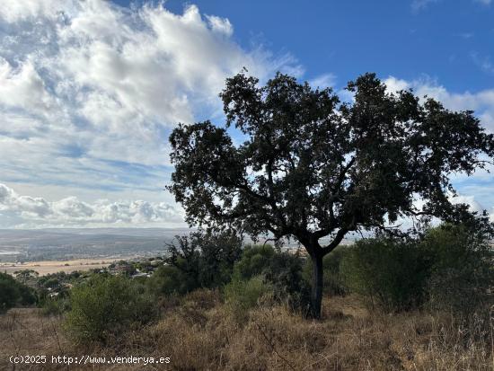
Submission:
POLYGON ((0 114, 32 119, 38 129, 26 136, 53 146, 65 137, 99 159, 165 163, 170 128, 214 115, 227 76, 243 66, 261 78, 301 73, 289 55, 242 49, 227 19, 195 5, 174 14, 151 4, 6 0, 0 25, 0 114))

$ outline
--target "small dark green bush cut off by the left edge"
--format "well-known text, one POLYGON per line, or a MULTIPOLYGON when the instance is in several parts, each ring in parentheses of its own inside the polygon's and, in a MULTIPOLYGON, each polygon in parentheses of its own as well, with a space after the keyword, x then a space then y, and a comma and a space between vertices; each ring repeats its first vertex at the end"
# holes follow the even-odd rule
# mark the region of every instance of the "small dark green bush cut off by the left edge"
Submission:
POLYGON ((12 276, 0 273, 0 313, 20 305, 33 305, 36 302, 31 287, 23 285, 12 276))

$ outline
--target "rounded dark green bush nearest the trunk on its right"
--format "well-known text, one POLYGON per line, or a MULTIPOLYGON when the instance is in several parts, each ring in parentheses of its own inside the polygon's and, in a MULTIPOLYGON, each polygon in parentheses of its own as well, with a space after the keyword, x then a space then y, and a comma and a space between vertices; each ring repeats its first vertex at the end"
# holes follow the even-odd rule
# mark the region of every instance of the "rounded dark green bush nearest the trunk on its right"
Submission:
POLYGON ((430 261, 417 243, 363 239, 341 261, 345 284, 384 311, 408 310, 426 298, 430 261))

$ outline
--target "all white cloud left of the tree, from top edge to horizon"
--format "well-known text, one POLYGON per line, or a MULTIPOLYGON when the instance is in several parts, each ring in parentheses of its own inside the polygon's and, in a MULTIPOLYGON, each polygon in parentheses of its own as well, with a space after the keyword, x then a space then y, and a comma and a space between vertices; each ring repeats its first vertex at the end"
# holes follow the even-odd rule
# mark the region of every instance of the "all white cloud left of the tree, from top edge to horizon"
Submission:
POLYGON ((179 121, 219 119, 217 94, 243 66, 261 80, 278 69, 304 72, 289 54, 262 45, 243 49, 228 19, 202 15, 195 5, 175 14, 161 4, 4 0, 0 182, 24 184, 34 194, 43 188, 48 199, 64 187, 67 197, 84 193, 90 201, 85 208, 71 198, 17 199, 16 215, 55 223, 55 216, 73 213, 71 220, 83 220, 94 199, 108 196, 112 201, 98 207, 91 223, 112 223, 117 215, 126 223, 163 222, 164 207, 155 205, 171 199, 163 192, 171 129, 179 121), (145 203, 116 203, 118 195, 141 194, 145 203))

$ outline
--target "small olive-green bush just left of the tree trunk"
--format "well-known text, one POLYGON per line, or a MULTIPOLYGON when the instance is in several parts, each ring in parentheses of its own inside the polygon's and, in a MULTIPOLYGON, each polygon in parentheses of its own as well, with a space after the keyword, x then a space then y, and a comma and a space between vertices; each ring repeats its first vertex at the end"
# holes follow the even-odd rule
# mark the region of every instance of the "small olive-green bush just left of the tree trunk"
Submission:
POLYGON ((225 303, 234 314, 234 318, 243 321, 249 310, 259 304, 262 296, 268 296, 273 291, 260 276, 248 280, 234 279, 225 286, 225 303))

